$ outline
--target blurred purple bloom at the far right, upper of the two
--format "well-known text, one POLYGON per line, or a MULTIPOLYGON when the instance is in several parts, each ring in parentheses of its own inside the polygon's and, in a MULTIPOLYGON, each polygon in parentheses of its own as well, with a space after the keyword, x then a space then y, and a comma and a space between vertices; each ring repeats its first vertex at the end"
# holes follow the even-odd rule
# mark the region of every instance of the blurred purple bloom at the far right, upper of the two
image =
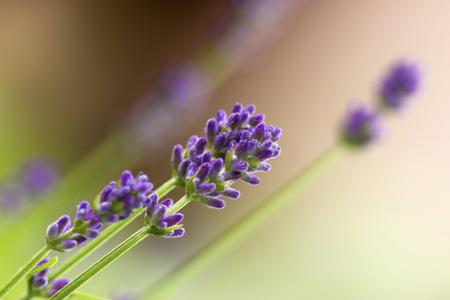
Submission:
POLYGON ((388 109, 399 109, 419 89, 420 70, 417 64, 400 61, 382 79, 379 96, 388 109))

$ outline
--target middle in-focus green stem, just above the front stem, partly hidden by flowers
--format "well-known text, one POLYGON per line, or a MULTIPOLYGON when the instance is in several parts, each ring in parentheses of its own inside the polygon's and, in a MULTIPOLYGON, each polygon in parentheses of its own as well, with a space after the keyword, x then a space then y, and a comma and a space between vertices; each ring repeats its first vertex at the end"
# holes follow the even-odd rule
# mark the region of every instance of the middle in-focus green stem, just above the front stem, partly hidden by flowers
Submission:
MULTIPOLYGON (((158 194, 159 198, 166 196, 175 188, 175 179, 169 179, 165 183, 163 183, 159 188, 155 190, 155 193, 158 194)), ((145 209, 136 210, 136 212, 130 216, 128 219, 123 220, 121 222, 115 223, 109 227, 107 227, 103 232, 94 240, 87 243, 83 248, 81 248, 78 252, 72 255, 67 261, 65 261, 61 267, 52 274, 50 280, 60 277, 64 273, 71 270, 75 267, 79 262, 81 262, 85 257, 94 252, 97 248, 101 247, 107 241, 109 241, 112 237, 118 234, 123 228, 125 228, 128 224, 133 222, 136 218, 144 213, 145 209)))

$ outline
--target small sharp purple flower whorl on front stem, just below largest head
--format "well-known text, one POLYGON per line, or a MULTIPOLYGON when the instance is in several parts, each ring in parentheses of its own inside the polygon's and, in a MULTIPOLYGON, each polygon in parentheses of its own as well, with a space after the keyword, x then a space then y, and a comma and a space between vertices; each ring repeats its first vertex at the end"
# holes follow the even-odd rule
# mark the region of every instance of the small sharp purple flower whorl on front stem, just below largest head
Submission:
POLYGON ((149 234, 165 238, 179 238, 184 235, 181 222, 183 214, 175 213, 167 216, 167 210, 173 205, 172 199, 166 199, 158 203, 156 194, 149 197, 149 205, 145 214, 145 223, 149 234))

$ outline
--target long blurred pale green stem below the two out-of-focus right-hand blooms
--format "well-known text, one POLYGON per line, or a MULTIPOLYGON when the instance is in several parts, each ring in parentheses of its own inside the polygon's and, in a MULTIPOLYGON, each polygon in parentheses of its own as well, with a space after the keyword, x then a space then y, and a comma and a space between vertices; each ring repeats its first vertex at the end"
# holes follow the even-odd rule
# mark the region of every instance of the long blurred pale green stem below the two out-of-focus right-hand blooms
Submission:
POLYGON ((169 298, 178 288, 189 282, 209 264, 217 261, 220 256, 233 249, 263 222, 273 217, 289 201, 295 200, 300 192, 308 187, 314 179, 322 174, 326 167, 330 166, 344 152, 342 151, 344 147, 342 144, 336 144, 323 152, 254 210, 240 218, 206 246, 144 291, 142 299, 169 298))

